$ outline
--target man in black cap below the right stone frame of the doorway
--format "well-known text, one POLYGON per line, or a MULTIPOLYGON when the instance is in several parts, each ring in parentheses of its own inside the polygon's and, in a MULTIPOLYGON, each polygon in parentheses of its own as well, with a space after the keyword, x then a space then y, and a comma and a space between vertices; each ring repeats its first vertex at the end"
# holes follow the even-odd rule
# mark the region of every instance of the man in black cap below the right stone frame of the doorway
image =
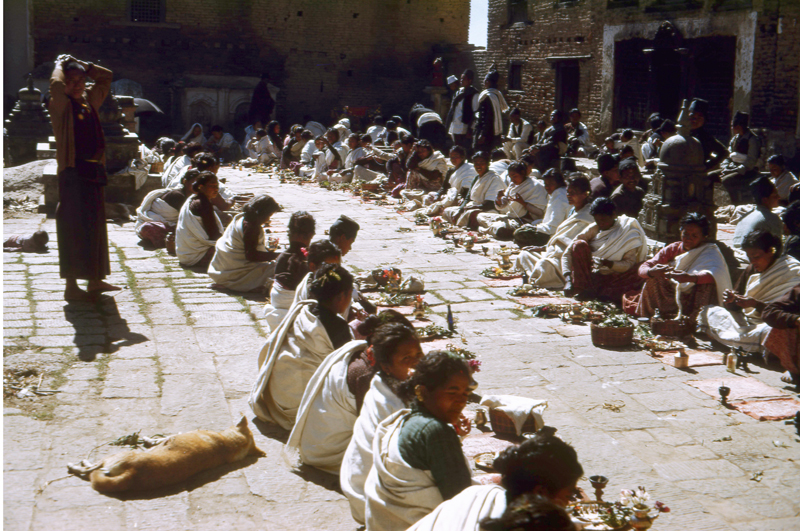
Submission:
POLYGON ((748 127, 750 115, 737 111, 733 115, 731 154, 722 163, 722 184, 734 205, 750 203, 746 193, 748 183, 759 176, 758 159, 761 156, 761 139, 748 127))

